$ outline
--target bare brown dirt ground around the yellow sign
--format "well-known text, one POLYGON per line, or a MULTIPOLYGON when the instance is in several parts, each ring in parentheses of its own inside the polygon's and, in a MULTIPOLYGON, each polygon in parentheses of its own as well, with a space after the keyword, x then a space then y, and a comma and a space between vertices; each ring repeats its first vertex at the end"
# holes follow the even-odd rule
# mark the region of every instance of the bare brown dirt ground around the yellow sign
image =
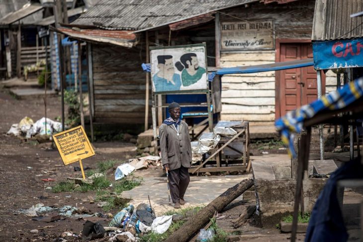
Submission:
MULTIPOLYGON (((28 209, 31 206, 43 203, 45 206, 62 207, 85 206, 91 212, 103 212, 97 203, 85 204, 82 199, 94 196, 94 192, 62 192, 52 193, 53 184, 64 181, 67 177, 82 177, 80 171, 74 171, 73 164, 65 166, 60 159, 58 151, 51 149, 50 144, 36 144, 34 141, 25 142, 19 138, 7 136, 6 132, 11 124, 18 123, 24 116, 34 122, 44 116, 44 104, 41 98, 18 100, 6 91, 0 91, 0 241, 53 241, 60 238, 65 231, 79 234, 85 221, 66 219, 60 222, 45 223, 32 221, 30 217, 22 214, 16 215, 18 209, 28 209), (55 181, 45 182, 41 179, 52 178, 55 181), (48 198, 45 198, 48 197, 48 198), (30 231, 37 229, 37 234, 30 231)), ((59 97, 48 98, 48 117, 60 116, 59 97)), ((129 147, 133 144, 108 142, 96 143, 95 148, 129 147)), ((97 153, 95 156, 83 161, 84 166, 95 168, 96 161, 114 159, 123 161, 134 156, 135 152, 97 153)), ((78 166, 75 163, 74 166, 78 166)), ((118 211, 110 211, 112 214, 118 211)), ((108 222, 107 222, 108 223, 108 222)), ((78 240, 66 238, 67 241, 78 240)))

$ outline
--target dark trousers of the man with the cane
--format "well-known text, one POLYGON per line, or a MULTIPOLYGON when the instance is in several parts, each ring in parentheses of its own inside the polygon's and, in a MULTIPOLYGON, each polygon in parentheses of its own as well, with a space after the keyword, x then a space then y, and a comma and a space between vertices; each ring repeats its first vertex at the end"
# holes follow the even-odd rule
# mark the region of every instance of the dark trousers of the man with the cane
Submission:
POLYGON ((190 181, 188 168, 181 166, 178 169, 169 171, 169 187, 173 203, 184 200, 184 194, 190 181))

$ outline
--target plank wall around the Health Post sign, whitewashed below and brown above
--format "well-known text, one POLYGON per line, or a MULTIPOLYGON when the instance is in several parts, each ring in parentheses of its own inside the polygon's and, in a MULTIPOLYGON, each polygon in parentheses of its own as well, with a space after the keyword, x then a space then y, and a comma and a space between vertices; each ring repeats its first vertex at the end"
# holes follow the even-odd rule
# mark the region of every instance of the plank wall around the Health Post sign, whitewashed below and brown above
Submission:
MULTIPOLYGON (((310 39, 315 0, 287 4, 251 4, 224 11, 240 19, 273 19, 275 38, 310 39)), ((221 14, 220 21, 239 21, 221 14)), ((275 50, 222 51, 221 67, 251 66, 275 62, 275 50)), ((330 83, 330 82, 329 82, 330 83)), ((327 88, 328 90, 329 88, 327 88)), ((273 124, 275 119, 275 72, 222 77, 222 120, 249 120, 273 124)))

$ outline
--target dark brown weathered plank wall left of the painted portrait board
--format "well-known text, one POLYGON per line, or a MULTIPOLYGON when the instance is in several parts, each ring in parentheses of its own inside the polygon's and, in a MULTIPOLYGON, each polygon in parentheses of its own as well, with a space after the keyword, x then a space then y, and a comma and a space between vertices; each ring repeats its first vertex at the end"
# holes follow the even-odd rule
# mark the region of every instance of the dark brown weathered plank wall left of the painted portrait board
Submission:
POLYGON ((137 47, 92 45, 95 122, 144 123, 144 54, 137 47))

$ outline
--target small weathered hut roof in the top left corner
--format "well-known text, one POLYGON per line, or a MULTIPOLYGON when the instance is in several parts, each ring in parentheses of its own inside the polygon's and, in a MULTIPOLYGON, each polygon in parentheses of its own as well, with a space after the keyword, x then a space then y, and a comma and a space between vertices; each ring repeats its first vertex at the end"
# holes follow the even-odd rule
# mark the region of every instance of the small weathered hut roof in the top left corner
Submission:
POLYGON ((22 24, 33 24, 34 22, 39 21, 43 17, 43 14, 34 14, 35 12, 43 9, 43 6, 40 4, 27 3, 20 8, 16 8, 15 5, 13 5, 13 7, 16 10, 8 12, 6 15, 4 15, 0 19, 0 25, 12 24, 19 20, 21 20, 22 24), (33 14, 34 16, 30 16, 33 14))

